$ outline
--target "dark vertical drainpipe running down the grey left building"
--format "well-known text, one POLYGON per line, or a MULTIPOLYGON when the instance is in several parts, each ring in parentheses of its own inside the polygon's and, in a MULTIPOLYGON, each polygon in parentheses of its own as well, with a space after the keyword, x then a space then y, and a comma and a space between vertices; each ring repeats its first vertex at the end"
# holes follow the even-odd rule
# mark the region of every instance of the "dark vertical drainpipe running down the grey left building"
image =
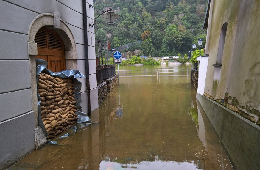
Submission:
POLYGON ((89 65, 88 65, 88 24, 87 24, 87 1, 82 0, 83 7, 83 31, 84 31, 84 49, 85 49, 85 74, 86 74, 86 91, 88 97, 88 114, 90 114, 90 84, 89 84, 89 65))

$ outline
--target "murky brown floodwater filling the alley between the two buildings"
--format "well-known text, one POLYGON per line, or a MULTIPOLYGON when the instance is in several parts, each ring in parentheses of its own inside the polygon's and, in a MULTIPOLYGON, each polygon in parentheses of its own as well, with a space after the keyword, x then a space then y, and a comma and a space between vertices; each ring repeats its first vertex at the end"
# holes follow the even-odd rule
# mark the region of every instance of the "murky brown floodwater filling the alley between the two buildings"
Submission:
POLYGON ((120 77, 91 124, 71 128, 59 145, 47 144, 9 169, 232 169, 190 76, 156 76, 159 68, 187 67, 120 67, 155 76, 120 77))

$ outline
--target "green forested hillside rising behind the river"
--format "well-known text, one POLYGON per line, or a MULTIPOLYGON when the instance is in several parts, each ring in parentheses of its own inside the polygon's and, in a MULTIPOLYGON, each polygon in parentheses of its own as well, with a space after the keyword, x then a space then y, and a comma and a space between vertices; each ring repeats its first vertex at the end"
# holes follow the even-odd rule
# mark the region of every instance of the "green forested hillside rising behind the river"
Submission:
MULTIPOLYGON (((141 49, 146 56, 184 55, 198 39, 205 44, 206 30, 202 27, 207 3, 208 0, 94 0, 96 10, 111 8, 120 15, 112 26, 99 17, 95 37, 110 41, 111 48, 141 39, 143 43, 131 50, 141 49)), ((95 12, 95 16, 99 14, 95 12)))

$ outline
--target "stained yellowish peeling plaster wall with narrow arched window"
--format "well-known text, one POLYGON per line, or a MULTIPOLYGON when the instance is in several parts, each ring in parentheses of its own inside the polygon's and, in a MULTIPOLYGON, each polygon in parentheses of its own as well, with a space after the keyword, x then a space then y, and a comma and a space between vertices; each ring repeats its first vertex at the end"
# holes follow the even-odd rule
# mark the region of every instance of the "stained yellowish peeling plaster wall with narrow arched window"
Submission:
MULTIPOLYGON (((260 110, 260 1, 211 1, 206 51, 209 53, 204 95, 221 101, 253 122, 260 110), (221 28, 227 22, 222 67, 216 64, 221 28), (235 99, 235 100, 233 100, 235 99), (233 106, 232 105, 232 106, 233 106), (233 108, 233 107, 231 107, 233 108)), ((224 105, 225 106, 225 105, 224 105)), ((258 123, 259 124, 259 123, 258 123)))

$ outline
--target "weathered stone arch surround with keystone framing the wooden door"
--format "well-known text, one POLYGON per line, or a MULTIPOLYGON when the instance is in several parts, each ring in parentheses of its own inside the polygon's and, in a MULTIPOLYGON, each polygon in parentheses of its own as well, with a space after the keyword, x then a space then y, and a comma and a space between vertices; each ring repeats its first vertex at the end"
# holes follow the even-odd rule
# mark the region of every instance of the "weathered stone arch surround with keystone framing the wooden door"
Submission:
POLYGON ((46 26, 55 30, 63 40, 65 46, 66 70, 77 69, 77 50, 74 36, 68 25, 60 19, 59 12, 43 13, 38 15, 31 23, 28 31, 28 55, 30 62, 30 77, 32 91, 32 111, 35 113, 35 127, 38 127, 38 99, 37 99, 37 81, 36 81, 36 64, 37 44, 34 43, 35 35, 38 30, 46 26))

